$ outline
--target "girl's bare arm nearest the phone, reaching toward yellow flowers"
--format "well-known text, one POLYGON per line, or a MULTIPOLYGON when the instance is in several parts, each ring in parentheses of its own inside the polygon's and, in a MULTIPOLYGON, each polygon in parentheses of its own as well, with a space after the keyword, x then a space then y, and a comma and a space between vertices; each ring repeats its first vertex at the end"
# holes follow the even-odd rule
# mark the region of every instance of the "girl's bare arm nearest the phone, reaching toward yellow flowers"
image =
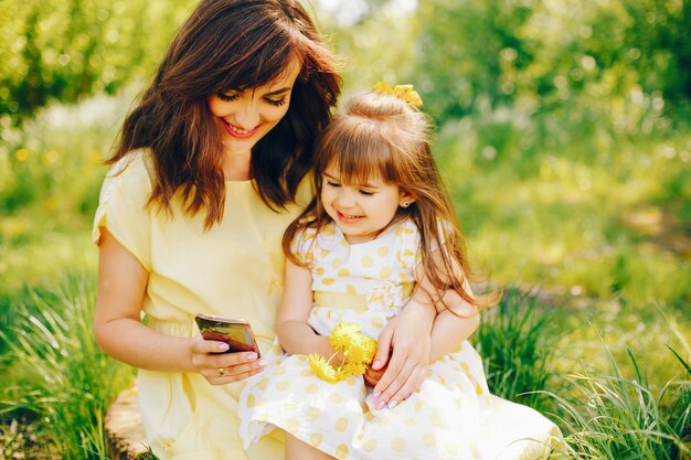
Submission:
POLYGON ((329 338, 318 335, 307 323, 312 300, 311 272, 306 267, 286 260, 286 281, 276 321, 280 346, 288 354, 319 353, 328 360, 334 353, 329 338))

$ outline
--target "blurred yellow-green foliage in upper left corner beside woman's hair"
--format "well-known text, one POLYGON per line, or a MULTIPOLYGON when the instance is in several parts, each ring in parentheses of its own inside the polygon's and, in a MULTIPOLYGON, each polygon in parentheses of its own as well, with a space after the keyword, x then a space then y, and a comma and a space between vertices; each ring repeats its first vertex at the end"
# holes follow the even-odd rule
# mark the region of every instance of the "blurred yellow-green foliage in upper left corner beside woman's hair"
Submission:
POLYGON ((0 0, 0 117, 148 76, 192 0, 0 0))

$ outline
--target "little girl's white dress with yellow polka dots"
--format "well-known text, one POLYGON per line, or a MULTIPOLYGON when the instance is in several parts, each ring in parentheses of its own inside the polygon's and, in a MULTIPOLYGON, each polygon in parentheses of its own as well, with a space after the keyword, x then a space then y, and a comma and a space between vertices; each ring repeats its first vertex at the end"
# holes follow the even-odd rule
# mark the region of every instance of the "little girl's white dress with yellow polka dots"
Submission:
MULTIPOLYGON (((404 221, 378 238, 350 245, 332 223, 306 229, 294 252, 312 274, 309 324, 328 335, 341 321, 376 339, 412 292, 419 233, 404 221)), ((376 409, 362 377, 328 383, 304 355, 278 344, 265 372, 247 381, 240 403, 245 447, 276 427, 338 459, 478 459, 491 405, 482 362, 468 342, 432 363, 418 393, 376 409)))

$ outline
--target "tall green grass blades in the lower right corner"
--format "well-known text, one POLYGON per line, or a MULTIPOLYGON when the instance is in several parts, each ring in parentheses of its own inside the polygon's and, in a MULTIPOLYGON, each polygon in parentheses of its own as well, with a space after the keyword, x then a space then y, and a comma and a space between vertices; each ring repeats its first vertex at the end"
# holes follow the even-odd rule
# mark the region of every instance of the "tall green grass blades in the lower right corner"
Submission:
POLYGON ((691 427, 691 367, 671 352, 680 372, 660 392, 650 388, 631 353, 632 378, 612 355, 607 375, 567 376, 566 396, 551 394, 566 435, 565 452, 555 458, 673 460, 691 454, 691 442, 683 439, 691 427))

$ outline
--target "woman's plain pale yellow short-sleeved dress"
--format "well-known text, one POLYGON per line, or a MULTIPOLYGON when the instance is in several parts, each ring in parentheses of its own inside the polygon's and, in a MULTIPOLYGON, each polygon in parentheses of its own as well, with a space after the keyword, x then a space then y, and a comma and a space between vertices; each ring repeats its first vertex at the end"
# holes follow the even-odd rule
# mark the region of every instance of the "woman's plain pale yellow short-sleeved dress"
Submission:
MULTIPOLYGON (((173 201, 173 217, 146 207, 151 192, 150 154, 137 151, 106 176, 93 227, 108 232, 149 271, 143 299, 148 325, 190 338, 194 314, 247 319, 262 351, 274 339, 283 291, 285 258, 280 242, 287 225, 313 191, 304 181, 297 204, 269 210, 252 181, 226 182, 223 222, 204 232, 204 214, 184 214, 173 201)), ((139 371, 138 391, 147 439, 161 460, 279 460, 283 440, 265 438, 245 452, 237 436, 237 399, 243 383, 210 385, 195 373, 139 371)))

